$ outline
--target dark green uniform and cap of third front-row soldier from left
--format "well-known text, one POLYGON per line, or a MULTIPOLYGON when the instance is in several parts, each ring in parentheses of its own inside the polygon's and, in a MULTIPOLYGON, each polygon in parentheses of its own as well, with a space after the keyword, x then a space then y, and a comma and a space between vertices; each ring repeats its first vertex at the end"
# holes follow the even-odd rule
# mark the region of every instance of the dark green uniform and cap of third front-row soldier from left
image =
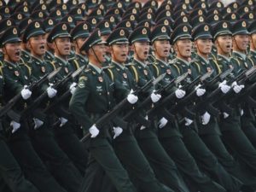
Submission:
MULTIPOLYGON (((67 26, 65 23, 56 25, 49 33, 49 43, 52 43, 55 38, 70 37, 68 31, 69 26, 67 26)), ((68 62, 67 59, 65 60, 57 55, 55 55, 55 60, 52 61, 52 64, 56 68, 61 67, 60 73, 57 74, 57 80, 64 79, 69 73, 73 73, 75 71, 73 64, 68 62)), ((59 87, 57 89, 58 95, 61 96, 67 92, 73 82, 77 82, 77 79, 70 79, 67 84, 63 84, 61 87, 59 87)), ((64 118, 67 120, 65 123, 61 122, 61 124, 58 123, 55 125, 55 139, 59 143, 62 150, 67 154, 69 159, 79 169, 79 172, 84 175, 87 163, 87 154, 84 151, 84 146, 79 142, 79 137, 76 135, 76 121, 68 110, 69 100, 70 96, 67 96, 67 98, 64 98, 63 101, 61 101, 61 103, 54 108, 55 115, 58 118, 64 118)), ((79 186, 75 187, 78 188, 79 186)))

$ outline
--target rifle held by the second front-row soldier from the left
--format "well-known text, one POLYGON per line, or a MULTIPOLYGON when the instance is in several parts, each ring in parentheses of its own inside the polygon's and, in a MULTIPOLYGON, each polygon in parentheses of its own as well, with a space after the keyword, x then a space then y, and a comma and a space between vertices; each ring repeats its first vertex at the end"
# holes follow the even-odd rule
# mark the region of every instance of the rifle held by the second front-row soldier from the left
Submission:
MULTIPOLYGON (((73 79, 74 77, 77 77, 82 71, 84 67, 81 67, 77 69, 75 72, 68 73, 67 76, 60 81, 58 81, 56 84, 53 85, 53 88, 57 90, 60 86, 63 86, 64 84, 67 84, 69 79, 73 79)), ((55 73, 56 74, 56 73, 55 73)), ((53 76, 52 76, 53 77, 53 76)), ((69 91, 69 90, 68 90, 69 91)), ((44 91, 43 94, 38 96, 25 110, 22 111, 21 116, 26 115, 27 113, 32 112, 33 109, 37 108, 38 105, 48 96, 47 90, 44 91)))

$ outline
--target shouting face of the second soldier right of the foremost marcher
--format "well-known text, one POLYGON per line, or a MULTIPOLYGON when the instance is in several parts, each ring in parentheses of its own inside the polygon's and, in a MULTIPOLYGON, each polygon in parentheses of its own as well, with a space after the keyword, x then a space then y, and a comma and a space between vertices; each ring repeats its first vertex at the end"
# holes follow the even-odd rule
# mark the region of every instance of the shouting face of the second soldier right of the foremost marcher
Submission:
POLYGON ((139 61, 148 59, 149 43, 148 42, 135 42, 133 44, 134 55, 139 61))

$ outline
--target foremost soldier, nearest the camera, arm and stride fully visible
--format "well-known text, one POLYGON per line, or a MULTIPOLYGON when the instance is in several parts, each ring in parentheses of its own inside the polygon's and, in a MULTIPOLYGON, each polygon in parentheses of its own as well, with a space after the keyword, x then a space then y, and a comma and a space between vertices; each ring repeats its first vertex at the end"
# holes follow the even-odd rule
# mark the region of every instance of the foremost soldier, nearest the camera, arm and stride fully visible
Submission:
MULTIPOLYGON (((80 191, 86 188, 96 188, 94 182, 96 177, 96 164, 100 164, 102 169, 107 173, 113 185, 118 191, 136 191, 132 185, 128 173, 125 171, 113 148, 109 143, 109 129, 113 127, 106 124, 99 130, 94 123, 113 108, 113 93, 119 92, 125 97, 126 90, 117 90, 111 80, 105 73, 102 73, 102 62, 105 61, 105 48, 102 45, 99 30, 96 29, 90 34, 81 48, 88 55, 88 68, 79 77, 79 84, 75 90, 71 101, 70 110, 74 117, 83 126, 85 131, 90 132, 89 143, 89 164, 86 169, 83 186, 80 191)), ((128 102, 131 104, 137 102, 137 96, 129 94, 128 102)), ((96 183, 95 183, 96 184, 96 183)), ((97 185, 97 184, 96 184, 97 185)), ((94 190, 96 191, 96 190, 94 190)))

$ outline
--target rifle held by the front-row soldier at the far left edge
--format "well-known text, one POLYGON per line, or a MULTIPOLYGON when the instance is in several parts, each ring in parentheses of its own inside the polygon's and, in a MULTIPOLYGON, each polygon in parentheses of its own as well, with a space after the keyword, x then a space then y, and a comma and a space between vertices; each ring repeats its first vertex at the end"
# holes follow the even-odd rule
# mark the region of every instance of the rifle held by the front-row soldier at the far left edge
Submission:
MULTIPOLYGON (((39 79, 38 81, 32 82, 32 84, 30 84, 27 89, 28 90, 34 90, 35 87, 39 87, 41 84, 44 84, 44 82, 46 80, 49 81, 50 79, 55 77, 55 75, 57 73, 59 73, 60 70, 61 70, 61 67, 55 69, 55 71, 53 71, 51 73, 45 74, 43 78, 39 79)), ((0 108, 0 117, 2 117, 4 114, 8 113, 9 110, 15 106, 15 103, 20 101, 21 97, 22 97, 21 93, 17 94, 11 100, 9 100, 9 102, 6 103, 6 105, 4 105, 3 108, 0 108)), ((15 119, 17 119, 17 117, 15 117, 15 119)))

